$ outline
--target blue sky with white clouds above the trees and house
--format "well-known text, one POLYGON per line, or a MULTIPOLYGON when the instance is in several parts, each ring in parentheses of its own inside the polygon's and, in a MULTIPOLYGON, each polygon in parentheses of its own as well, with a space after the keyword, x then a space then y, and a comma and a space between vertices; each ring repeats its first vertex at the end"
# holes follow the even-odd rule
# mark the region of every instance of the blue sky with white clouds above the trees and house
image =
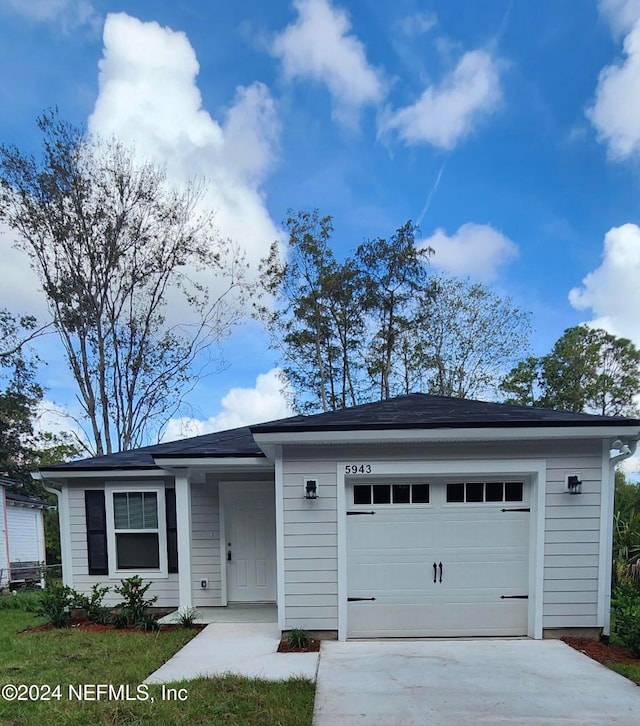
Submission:
MULTIPOLYGON (((37 151, 52 105, 206 175, 253 263, 288 208, 333 215, 338 256, 412 219, 434 269, 531 311, 532 353, 587 321, 640 344, 640 0, 0 0, 0 139, 37 151)), ((11 243, 0 305, 42 315, 11 243)), ((286 414, 255 324, 224 353, 174 434, 286 414)))

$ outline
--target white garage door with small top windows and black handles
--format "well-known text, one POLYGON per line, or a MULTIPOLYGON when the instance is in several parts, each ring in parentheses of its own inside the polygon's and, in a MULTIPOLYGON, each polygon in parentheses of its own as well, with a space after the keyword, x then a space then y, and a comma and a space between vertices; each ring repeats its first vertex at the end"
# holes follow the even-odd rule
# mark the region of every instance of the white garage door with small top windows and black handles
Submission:
POLYGON ((526 635, 523 481, 347 488, 348 637, 526 635))

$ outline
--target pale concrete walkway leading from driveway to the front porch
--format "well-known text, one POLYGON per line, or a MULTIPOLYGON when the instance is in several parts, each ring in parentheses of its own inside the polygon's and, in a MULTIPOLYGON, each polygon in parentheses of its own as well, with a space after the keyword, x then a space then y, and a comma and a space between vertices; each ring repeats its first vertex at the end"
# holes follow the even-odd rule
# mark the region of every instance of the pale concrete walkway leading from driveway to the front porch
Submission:
POLYGON ((145 683, 172 683, 232 673, 279 681, 315 680, 318 653, 278 653, 276 623, 213 623, 190 640, 145 683))

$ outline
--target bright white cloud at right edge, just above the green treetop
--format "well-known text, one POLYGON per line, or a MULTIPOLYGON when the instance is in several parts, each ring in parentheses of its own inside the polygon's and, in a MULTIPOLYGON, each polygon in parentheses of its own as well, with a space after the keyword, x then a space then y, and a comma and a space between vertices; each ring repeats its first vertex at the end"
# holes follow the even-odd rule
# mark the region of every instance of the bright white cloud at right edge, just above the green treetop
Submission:
POLYGON ((591 310, 592 324, 640 346, 640 227, 624 224, 604 238, 602 262, 569 292, 576 310, 591 310))

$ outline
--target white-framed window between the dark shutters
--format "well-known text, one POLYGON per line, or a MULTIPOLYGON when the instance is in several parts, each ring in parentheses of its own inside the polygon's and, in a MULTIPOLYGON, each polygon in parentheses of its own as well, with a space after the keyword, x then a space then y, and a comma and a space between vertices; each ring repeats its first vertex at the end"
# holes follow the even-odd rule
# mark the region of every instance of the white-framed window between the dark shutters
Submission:
POLYGON ((170 563, 164 487, 114 485, 106 494, 110 574, 165 577, 170 563))

